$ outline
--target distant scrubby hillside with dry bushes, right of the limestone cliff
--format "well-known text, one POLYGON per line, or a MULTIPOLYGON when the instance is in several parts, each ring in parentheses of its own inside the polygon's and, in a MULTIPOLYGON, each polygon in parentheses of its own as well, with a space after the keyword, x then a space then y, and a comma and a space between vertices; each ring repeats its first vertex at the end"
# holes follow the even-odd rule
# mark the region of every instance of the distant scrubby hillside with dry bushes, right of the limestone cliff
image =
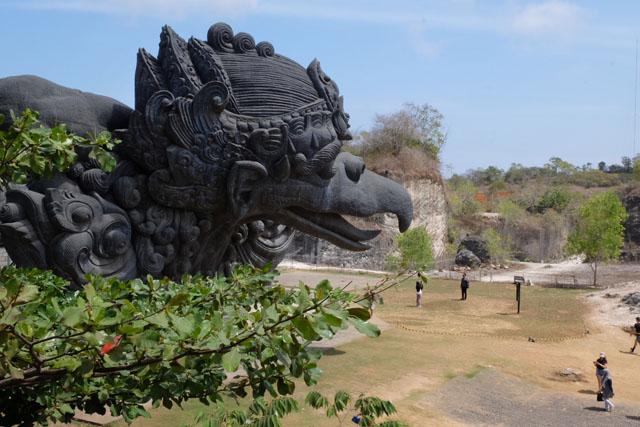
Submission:
POLYGON ((597 168, 574 166, 554 157, 543 166, 490 166, 446 180, 450 206, 449 257, 467 233, 485 235, 503 257, 555 261, 564 258, 567 235, 581 203, 601 191, 614 191, 630 213, 625 260, 640 260, 640 162, 597 168), (497 232, 497 233, 496 233, 497 232))

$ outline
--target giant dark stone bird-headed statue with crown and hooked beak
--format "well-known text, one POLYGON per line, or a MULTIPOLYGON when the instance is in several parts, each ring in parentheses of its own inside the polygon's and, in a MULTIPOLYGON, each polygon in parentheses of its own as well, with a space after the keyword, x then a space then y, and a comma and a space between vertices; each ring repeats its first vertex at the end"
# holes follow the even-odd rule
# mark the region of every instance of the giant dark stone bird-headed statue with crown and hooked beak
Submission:
POLYGON ((0 232, 18 266, 85 274, 226 273, 282 260, 296 230, 353 251, 378 234, 342 215, 397 215, 399 184, 342 152, 351 138, 336 83, 223 23, 207 40, 170 27, 157 57, 138 52, 135 110, 34 76, 0 80, 0 112, 31 107, 47 124, 110 130, 123 142, 107 173, 79 153, 66 174, 11 186, 0 232))

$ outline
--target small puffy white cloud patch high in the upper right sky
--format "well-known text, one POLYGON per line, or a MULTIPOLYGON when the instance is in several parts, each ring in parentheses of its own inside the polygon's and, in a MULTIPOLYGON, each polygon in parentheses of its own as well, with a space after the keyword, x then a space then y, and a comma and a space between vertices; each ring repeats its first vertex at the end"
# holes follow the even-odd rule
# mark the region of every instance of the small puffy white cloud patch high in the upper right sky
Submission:
POLYGON ((585 20, 581 7, 552 0, 526 6, 514 16, 512 29, 526 36, 570 38, 584 27, 585 20))

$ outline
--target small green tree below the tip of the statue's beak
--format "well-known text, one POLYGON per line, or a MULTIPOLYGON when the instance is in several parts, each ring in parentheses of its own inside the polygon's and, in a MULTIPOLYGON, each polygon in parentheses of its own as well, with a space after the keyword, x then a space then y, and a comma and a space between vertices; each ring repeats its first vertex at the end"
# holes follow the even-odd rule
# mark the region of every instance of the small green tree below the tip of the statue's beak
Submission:
POLYGON ((395 243, 400 255, 387 257, 388 269, 425 271, 435 265, 433 244, 426 228, 414 227, 398 234, 395 243))

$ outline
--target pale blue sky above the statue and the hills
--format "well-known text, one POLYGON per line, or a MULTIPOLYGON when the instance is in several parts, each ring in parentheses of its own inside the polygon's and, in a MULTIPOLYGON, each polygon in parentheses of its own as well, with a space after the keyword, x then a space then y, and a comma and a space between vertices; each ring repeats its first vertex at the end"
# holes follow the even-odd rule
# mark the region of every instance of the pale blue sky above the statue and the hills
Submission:
POLYGON ((156 53, 162 25, 206 39, 225 21, 304 66, 319 58, 355 130, 405 102, 438 108, 447 175, 634 154, 636 0, 0 0, 0 17, 0 76, 129 105, 136 51, 156 53))

